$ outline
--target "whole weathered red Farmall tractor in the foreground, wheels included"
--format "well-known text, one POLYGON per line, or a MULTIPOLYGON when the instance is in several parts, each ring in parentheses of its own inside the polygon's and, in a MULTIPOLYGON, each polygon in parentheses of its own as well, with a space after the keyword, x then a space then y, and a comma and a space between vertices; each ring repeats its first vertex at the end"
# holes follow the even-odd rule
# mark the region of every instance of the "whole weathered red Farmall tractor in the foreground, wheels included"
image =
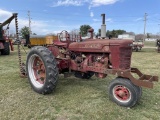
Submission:
POLYGON ((152 88, 158 77, 131 68, 131 40, 93 39, 93 29, 89 32, 91 37, 82 40, 62 31, 52 45, 32 47, 26 62, 31 87, 37 93, 49 94, 56 88, 58 74, 82 79, 113 74, 117 77, 109 84, 109 98, 120 106, 134 106, 141 98, 141 87, 152 88))

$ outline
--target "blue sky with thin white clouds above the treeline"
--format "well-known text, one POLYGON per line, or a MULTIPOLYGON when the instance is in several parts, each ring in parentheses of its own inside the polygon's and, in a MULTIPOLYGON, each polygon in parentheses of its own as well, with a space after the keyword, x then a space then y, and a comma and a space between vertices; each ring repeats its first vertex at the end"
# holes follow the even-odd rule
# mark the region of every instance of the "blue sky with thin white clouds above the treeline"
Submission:
MULTIPOLYGON (((31 31, 38 35, 73 31, 81 25, 98 32, 101 14, 106 14, 107 30, 143 34, 145 13, 146 33, 160 33, 160 0, 1 0, 0 22, 18 13, 19 29, 29 26, 28 11, 31 31)), ((15 32, 14 21, 10 32, 15 32)))

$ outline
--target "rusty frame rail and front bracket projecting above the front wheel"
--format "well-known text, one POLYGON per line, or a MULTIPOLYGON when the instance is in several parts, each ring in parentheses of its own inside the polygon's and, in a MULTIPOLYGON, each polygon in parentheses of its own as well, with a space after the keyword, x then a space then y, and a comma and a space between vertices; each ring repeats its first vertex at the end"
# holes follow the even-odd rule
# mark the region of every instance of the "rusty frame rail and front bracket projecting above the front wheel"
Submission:
POLYGON ((89 67, 84 66, 87 71, 93 71, 96 72, 96 76, 107 75, 107 74, 114 74, 118 77, 128 78, 130 79, 135 85, 142 86, 142 87, 148 87, 153 88, 153 82, 158 82, 158 76, 152 76, 152 75, 145 75, 141 73, 137 68, 131 68, 129 70, 116 70, 116 69, 106 69, 102 67, 89 67), (139 76, 139 78, 135 78, 132 74, 135 73, 139 76))

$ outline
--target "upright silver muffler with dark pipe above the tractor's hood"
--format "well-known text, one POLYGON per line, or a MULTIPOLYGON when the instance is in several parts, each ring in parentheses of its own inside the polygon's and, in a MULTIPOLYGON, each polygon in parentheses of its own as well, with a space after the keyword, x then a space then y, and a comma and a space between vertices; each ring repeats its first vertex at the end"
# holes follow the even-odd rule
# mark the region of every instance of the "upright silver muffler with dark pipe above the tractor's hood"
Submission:
POLYGON ((105 24, 105 14, 101 14, 102 16, 102 25, 101 25, 101 38, 106 38, 106 24, 105 24))

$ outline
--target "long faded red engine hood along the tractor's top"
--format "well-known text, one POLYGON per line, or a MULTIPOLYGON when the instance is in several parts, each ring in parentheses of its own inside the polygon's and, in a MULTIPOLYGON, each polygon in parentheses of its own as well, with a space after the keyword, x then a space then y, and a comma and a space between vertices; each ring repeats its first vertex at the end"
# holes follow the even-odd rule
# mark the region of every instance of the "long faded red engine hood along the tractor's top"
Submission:
POLYGON ((93 39, 73 42, 69 45, 69 50, 77 52, 109 52, 109 46, 128 46, 129 44, 132 44, 131 40, 93 39))

